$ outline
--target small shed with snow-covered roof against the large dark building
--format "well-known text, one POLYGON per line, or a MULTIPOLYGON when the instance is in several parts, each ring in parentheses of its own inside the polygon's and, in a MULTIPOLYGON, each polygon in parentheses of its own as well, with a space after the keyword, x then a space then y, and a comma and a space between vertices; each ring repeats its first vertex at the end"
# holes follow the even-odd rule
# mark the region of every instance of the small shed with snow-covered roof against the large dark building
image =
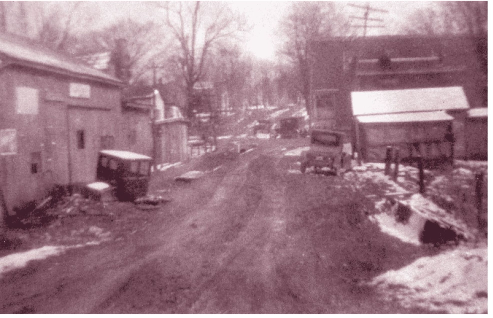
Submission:
POLYGON ((384 159, 387 146, 399 148, 401 158, 451 158, 464 147, 455 121, 467 109, 461 87, 352 92, 356 149, 366 160, 384 159))

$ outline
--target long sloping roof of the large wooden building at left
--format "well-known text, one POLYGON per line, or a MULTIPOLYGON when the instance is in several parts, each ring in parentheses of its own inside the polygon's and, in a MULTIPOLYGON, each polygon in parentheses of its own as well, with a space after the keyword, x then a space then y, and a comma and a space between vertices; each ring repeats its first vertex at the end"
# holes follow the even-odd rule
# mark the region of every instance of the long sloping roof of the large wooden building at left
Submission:
POLYGON ((55 73, 63 73, 75 77, 88 78, 121 85, 122 82, 98 69, 82 63, 75 62, 69 57, 54 51, 46 50, 39 45, 14 38, 12 36, 0 36, 0 55, 6 55, 14 60, 24 62, 29 66, 49 70, 55 73))

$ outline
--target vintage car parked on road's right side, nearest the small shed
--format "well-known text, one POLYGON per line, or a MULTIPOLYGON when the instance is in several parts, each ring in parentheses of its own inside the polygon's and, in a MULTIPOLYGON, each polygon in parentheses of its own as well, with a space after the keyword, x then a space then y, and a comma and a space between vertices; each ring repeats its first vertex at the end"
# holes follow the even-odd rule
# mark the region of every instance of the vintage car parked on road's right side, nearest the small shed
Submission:
POLYGON ((310 149, 301 154, 301 172, 309 167, 316 172, 329 168, 339 176, 351 169, 352 145, 346 133, 328 129, 313 129, 310 136, 310 149))

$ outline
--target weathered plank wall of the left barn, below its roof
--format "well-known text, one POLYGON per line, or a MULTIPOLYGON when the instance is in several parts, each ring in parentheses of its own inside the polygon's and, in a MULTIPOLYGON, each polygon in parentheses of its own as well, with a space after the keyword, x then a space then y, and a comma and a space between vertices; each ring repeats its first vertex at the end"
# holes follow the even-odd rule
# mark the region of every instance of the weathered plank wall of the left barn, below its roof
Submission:
POLYGON ((17 154, 0 157, 0 186, 9 211, 41 198, 55 184, 95 176, 100 136, 112 135, 115 145, 120 143, 118 87, 20 67, 1 70, 0 83, 0 129, 17 130, 17 154), (90 98, 70 97, 70 82, 90 85, 90 98), (37 90, 37 113, 16 112, 17 87, 37 90), (82 128, 85 149, 77 149, 76 130, 82 128))

